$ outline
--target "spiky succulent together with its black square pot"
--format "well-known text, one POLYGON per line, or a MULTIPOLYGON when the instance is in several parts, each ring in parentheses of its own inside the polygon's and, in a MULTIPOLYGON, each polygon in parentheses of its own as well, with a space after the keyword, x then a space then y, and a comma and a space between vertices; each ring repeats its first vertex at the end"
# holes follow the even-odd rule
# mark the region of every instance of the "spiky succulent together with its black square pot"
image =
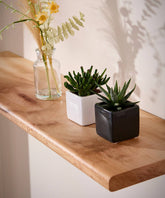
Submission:
POLYGON ((96 132, 110 142, 119 142, 139 135, 139 106, 128 98, 135 90, 128 92, 131 79, 125 82, 122 89, 116 81, 114 88, 106 85, 98 87, 105 94, 99 95, 101 103, 95 105, 96 132))

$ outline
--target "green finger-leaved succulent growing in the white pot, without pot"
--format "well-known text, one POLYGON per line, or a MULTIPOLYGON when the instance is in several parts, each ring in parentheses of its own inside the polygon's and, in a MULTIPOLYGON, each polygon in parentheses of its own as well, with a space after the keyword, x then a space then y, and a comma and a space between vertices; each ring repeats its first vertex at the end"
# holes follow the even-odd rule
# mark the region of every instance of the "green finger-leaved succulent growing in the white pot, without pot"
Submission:
POLYGON ((70 90, 70 92, 77 94, 79 96, 89 96, 94 93, 97 93, 99 90, 98 86, 104 85, 108 82, 110 77, 104 75, 106 69, 99 75, 97 69, 95 69, 92 74, 93 66, 90 67, 87 71, 84 71, 84 68, 81 66, 81 73, 76 73, 73 71, 65 75, 64 78, 67 79, 68 82, 64 83, 64 86, 70 90))

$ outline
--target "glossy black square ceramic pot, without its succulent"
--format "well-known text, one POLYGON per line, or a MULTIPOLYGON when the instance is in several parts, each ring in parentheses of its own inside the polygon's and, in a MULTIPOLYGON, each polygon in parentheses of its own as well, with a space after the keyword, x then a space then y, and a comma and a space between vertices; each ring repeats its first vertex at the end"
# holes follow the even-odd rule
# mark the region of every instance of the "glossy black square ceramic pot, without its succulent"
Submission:
POLYGON ((120 142, 139 135, 139 106, 121 111, 109 111, 95 105, 96 132, 110 142, 120 142))

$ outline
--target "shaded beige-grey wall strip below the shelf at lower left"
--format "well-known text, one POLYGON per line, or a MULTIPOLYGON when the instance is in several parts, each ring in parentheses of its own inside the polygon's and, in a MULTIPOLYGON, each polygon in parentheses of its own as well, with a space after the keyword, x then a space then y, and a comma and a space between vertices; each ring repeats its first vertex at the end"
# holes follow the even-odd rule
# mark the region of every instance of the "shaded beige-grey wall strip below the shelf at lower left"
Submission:
POLYGON ((2 115, 0 198, 30 198, 28 135, 2 115))

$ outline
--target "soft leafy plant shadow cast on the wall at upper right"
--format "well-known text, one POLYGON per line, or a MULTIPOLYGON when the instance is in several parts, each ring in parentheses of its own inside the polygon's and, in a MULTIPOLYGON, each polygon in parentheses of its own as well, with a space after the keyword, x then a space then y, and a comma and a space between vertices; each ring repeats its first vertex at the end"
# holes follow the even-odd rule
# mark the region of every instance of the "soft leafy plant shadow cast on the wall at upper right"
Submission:
MULTIPOLYGON (((165 23, 162 27, 157 29, 157 32, 152 35, 145 22, 147 22, 153 15, 157 15, 161 7, 160 0, 144 0, 144 6, 141 10, 141 16, 133 21, 131 19, 132 1, 124 1, 119 8, 118 1, 105 0, 101 8, 106 22, 109 24, 108 28, 103 31, 106 33, 108 42, 110 42, 116 49, 119 55, 118 71, 114 74, 114 79, 119 80, 123 84, 128 78, 132 78, 132 84, 135 84, 137 78, 137 71, 135 68, 135 60, 144 44, 148 45, 153 50, 153 58, 156 60, 157 68, 155 78, 157 82, 152 90, 152 95, 157 94, 156 87, 160 83, 160 75, 165 63, 162 62, 159 50, 156 48, 156 41, 158 37, 164 37, 165 23), (157 35, 157 36, 156 36, 157 35)), ((135 8, 136 9, 136 8, 135 8)), ((140 88, 137 86, 135 95, 140 96, 140 88)), ((154 97, 150 98, 152 101, 154 97)), ((153 101, 154 102, 154 101, 153 101)))

